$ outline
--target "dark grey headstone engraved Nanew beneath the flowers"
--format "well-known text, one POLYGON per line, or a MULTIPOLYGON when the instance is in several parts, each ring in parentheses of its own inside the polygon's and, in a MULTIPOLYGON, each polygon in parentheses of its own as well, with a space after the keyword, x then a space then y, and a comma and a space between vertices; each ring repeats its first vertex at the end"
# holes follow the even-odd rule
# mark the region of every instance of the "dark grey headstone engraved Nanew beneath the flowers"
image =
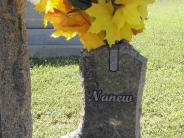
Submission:
POLYGON ((126 42, 81 54, 80 127, 63 138, 140 138, 147 60, 126 42))

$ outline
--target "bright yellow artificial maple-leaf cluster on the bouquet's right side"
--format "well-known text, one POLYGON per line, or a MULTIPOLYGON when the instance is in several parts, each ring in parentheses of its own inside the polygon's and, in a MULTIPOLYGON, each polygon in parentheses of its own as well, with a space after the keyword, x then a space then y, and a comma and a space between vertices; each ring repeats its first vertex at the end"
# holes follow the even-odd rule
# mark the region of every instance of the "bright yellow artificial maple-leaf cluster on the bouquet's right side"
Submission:
POLYGON ((99 0, 86 13, 94 18, 89 32, 105 31, 105 40, 112 46, 116 41, 131 41, 132 36, 142 32, 147 18, 147 5, 153 0, 116 0, 116 8, 111 1, 99 0), (98 10, 97 10, 98 9, 98 10))

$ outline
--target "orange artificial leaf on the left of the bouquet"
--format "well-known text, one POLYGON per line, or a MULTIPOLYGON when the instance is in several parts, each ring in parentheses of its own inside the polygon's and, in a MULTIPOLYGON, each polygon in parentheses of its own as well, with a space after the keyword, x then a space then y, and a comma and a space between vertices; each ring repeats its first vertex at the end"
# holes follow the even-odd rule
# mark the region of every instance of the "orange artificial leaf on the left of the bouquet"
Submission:
POLYGON ((90 26, 88 16, 77 10, 68 14, 55 10, 54 12, 45 14, 45 19, 56 30, 52 36, 65 36, 68 40, 77 34, 86 33, 90 26))

